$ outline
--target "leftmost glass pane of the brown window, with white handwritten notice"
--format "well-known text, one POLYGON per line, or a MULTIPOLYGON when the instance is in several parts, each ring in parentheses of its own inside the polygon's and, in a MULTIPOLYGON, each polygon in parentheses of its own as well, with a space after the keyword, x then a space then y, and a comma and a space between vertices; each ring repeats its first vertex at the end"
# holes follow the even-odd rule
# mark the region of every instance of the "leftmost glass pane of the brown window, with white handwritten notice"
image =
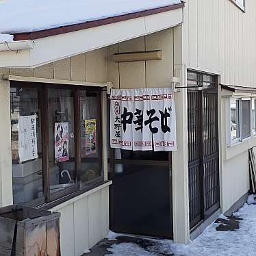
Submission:
POLYGON ((10 88, 14 203, 43 196, 41 112, 38 89, 10 88))

